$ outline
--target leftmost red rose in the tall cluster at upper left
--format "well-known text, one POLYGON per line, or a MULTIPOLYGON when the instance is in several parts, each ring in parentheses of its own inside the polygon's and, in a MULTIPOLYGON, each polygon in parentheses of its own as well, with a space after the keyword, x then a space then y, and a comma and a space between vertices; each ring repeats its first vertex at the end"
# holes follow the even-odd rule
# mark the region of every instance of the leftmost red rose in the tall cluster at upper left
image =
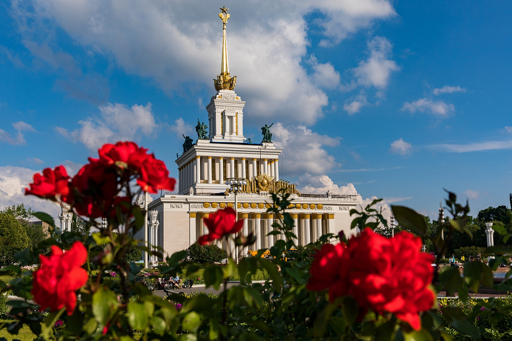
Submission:
POLYGON ((25 195, 32 194, 40 198, 56 200, 60 196, 66 201, 69 194, 69 176, 64 166, 57 166, 52 171, 51 168, 45 168, 42 175, 34 174, 34 183, 30 184, 30 189, 25 188, 25 195))

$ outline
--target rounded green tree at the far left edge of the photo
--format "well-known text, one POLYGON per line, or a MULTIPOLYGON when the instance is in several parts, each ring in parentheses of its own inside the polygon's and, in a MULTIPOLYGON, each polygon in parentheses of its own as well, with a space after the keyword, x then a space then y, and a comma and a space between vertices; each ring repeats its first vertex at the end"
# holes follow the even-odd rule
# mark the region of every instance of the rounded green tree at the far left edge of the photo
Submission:
POLYGON ((30 245, 22 223, 12 213, 0 212, 0 267, 14 263, 14 253, 30 245))

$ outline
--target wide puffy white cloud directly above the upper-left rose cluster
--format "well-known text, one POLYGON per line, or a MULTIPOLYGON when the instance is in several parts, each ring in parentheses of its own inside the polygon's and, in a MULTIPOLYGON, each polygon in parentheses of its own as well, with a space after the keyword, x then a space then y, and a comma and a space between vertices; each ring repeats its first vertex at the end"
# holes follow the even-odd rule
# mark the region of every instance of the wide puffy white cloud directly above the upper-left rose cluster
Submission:
POLYGON ((62 127, 55 130, 62 136, 82 142, 90 150, 95 150, 105 143, 121 140, 136 140, 140 133, 151 136, 156 123, 151 103, 145 106, 135 104, 128 108, 124 104, 108 103, 99 107, 99 117, 88 117, 78 121, 81 127, 69 132, 62 127))

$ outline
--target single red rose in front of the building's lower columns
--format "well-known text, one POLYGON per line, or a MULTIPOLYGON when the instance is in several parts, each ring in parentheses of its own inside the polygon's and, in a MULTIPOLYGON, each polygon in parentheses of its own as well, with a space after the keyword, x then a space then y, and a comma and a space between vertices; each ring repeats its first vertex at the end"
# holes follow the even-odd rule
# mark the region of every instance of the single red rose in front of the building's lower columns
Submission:
POLYGON ((212 213, 209 218, 204 218, 204 224, 210 233, 201 236, 198 243, 205 245, 231 233, 237 233, 244 226, 244 220, 237 221, 236 219, 237 214, 231 207, 219 209, 212 213))

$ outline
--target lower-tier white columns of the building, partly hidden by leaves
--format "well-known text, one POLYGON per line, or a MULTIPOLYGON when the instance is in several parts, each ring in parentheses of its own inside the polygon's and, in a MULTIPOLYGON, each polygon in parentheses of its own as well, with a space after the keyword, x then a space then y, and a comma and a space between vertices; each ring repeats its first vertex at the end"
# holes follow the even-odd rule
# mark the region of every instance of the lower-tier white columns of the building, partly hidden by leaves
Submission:
MULTIPOLYGON (((206 235, 208 229, 204 225, 203 219, 209 217, 209 212, 190 212, 190 226, 196 227, 196 240, 200 236, 206 235)), ((290 214, 294 226, 292 229, 293 234, 297 237, 296 245, 307 245, 310 242, 318 240, 322 235, 330 233, 335 230, 334 228, 334 214, 290 214)), ((272 226, 274 222, 283 219, 282 216, 277 216, 270 213, 246 213, 239 212, 239 219, 244 219, 242 227, 242 235, 248 236, 253 233, 256 236, 256 241, 249 247, 243 247, 236 250, 238 254, 247 254, 248 250, 259 250, 262 248, 271 248, 274 243, 280 239, 285 239, 284 235, 267 236, 268 233, 275 228, 272 226)), ((229 245, 222 244, 222 241, 216 242, 217 246, 226 250, 234 250, 234 242, 231 240, 229 245)))

